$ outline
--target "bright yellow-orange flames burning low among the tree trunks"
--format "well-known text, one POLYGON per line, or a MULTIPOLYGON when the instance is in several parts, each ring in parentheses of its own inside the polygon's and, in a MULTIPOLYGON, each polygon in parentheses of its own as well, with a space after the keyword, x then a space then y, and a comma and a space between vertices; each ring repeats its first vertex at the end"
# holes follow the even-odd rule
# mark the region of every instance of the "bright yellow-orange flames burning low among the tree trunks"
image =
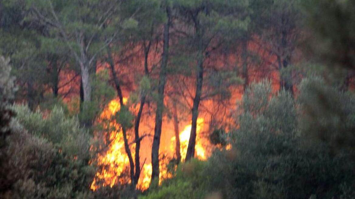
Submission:
MULTIPOLYGON (((127 98, 124 98, 124 103, 126 104, 127 98)), ((95 158, 94 162, 99 166, 100 170, 95 174, 95 178, 91 184, 91 189, 93 191, 97 190, 100 187, 110 186, 113 187, 118 183, 130 183, 130 178, 127 175, 130 164, 129 158, 125 152, 124 147, 124 138, 121 131, 121 128, 113 116, 120 110, 120 103, 118 99, 112 100, 107 108, 103 110, 101 113, 98 122, 103 125, 103 129, 105 132, 103 133, 103 142, 107 147, 103 153, 99 153, 95 158)), ((197 121, 197 140, 196 140, 196 157, 201 160, 206 160, 207 155, 206 151, 202 146, 201 136, 199 136, 200 131, 203 129, 203 118, 198 118, 197 121)), ((191 131, 191 124, 186 125, 184 130, 179 133, 180 138, 180 153, 182 157, 182 161, 185 160, 187 145, 189 144, 191 131)), ((128 135, 129 136, 129 135, 128 135)), ((130 137, 128 137, 130 138, 130 137)), ((171 151, 175 148, 175 137, 170 139, 171 143, 169 148, 171 151)), ((134 154, 135 144, 130 146, 132 155, 134 154)), ((142 148, 141 148, 142 149, 142 148)), ((145 150, 145 149, 143 149, 145 150)), ((149 150, 149 149, 147 149, 149 150)), ((162 152, 160 152, 162 153, 162 152)), ((159 183, 162 180, 171 178, 173 175, 168 171, 167 164, 169 161, 173 159, 174 153, 165 154, 168 152, 163 152, 164 154, 160 162, 160 175, 159 175, 159 183)), ((141 154, 142 155, 142 154, 141 154)), ((137 183, 137 188, 144 191, 148 189, 151 175, 152 175, 152 165, 150 162, 145 161, 148 157, 140 157, 140 159, 144 160, 144 164, 141 166, 141 175, 137 183)))

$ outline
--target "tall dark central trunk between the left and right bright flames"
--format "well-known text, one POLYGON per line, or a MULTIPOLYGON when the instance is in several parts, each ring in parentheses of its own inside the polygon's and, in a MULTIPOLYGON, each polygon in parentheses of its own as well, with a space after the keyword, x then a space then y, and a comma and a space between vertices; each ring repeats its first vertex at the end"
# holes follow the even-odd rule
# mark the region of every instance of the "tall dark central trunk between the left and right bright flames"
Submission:
POLYGON ((162 54, 162 62, 160 64, 160 72, 159 72, 158 102, 157 102, 157 111, 155 113, 155 128, 154 128, 154 137, 153 137, 153 146, 152 146, 151 182, 153 182, 155 178, 159 177, 159 146, 160 146, 160 135, 162 133, 164 89, 165 89, 165 79, 166 79, 166 66, 168 65, 168 57, 169 57, 169 30, 170 30, 170 23, 171 23, 169 6, 166 7, 166 15, 168 17, 168 21, 164 24, 163 54, 162 54))

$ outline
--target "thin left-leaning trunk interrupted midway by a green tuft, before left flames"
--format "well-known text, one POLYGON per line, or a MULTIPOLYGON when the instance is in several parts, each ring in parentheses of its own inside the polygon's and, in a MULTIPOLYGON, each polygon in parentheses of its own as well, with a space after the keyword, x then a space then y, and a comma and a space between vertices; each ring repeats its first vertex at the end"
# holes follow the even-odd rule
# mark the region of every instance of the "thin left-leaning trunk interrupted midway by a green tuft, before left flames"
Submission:
MULTIPOLYGON (((117 78, 117 73, 115 70, 115 64, 112 58, 112 54, 111 54, 111 49, 110 47, 107 47, 107 52, 108 52, 108 62, 110 64, 110 69, 111 69, 111 73, 112 73, 112 77, 116 86, 116 90, 117 90, 117 95, 120 99, 120 106, 121 108, 124 107, 125 105, 123 104, 123 95, 122 95, 122 90, 121 90, 121 86, 120 86, 120 82, 117 78)), ((132 187, 136 187, 138 179, 136 180, 135 178, 135 165, 133 162, 133 157, 132 157, 132 153, 131 153, 131 149, 130 146, 128 144, 128 139, 127 139, 127 130, 124 126, 122 126, 122 134, 123 134, 123 140, 124 140, 124 145, 125 145, 125 151, 126 154, 128 156, 128 160, 130 163, 130 178, 131 178, 131 185, 132 187)), ((136 163, 137 164, 137 163, 136 163)), ((138 162, 139 164, 139 162, 138 162)))

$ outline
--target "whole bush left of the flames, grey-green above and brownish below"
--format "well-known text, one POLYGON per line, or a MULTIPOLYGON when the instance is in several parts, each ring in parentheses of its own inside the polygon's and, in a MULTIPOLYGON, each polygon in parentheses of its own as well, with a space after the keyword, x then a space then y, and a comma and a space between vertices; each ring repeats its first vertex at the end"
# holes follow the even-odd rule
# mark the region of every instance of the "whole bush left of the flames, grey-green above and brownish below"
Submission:
POLYGON ((12 109, 17 119, 4 150, 9 157, 5 178, 12 186, 0 197, 90 198, 88 187, 95 174, 88 165, 91 138, 79 127, 77 118, 67 118, 59 107, 44 118, 25 106, 12 109))

